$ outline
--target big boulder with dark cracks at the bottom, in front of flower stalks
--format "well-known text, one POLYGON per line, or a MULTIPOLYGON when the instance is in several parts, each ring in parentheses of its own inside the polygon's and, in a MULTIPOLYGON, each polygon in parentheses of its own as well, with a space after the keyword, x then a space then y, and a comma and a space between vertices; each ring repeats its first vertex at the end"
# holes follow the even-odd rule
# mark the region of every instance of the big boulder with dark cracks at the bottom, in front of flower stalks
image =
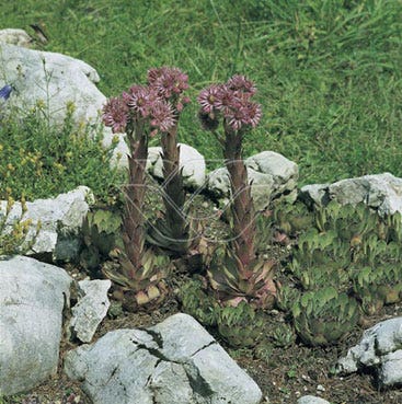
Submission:
POLYGON ((175 314, 67 354, 65 371, 96 404, 257 404, 262 392, 200 324, 175 314))

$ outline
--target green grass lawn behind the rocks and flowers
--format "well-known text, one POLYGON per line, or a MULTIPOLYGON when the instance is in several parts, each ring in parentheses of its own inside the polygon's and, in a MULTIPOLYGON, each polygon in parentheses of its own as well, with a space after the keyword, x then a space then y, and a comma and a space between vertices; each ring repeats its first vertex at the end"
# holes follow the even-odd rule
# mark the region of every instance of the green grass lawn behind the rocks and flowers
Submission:
MULTIPOLYGON (((191 95, 244 73, 259 86, 262 125, 245 155, 274 150, 300 166, 300 184, 389 171, 402 176, 401 0, 14 0, 0 28, 33 33, 42 48, 80 58, 111 96, 147 69, 177 66, 191 95)), ((199 129, 196 102, 181 140, 220 159, 199 129)))

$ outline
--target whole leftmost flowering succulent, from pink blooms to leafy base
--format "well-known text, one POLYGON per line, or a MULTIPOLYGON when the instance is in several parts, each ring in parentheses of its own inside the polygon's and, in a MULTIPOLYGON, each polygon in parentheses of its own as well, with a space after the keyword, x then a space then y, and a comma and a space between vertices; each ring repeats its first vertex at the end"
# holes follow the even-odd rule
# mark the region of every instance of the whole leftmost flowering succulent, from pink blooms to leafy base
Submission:
POLYGON ((162 274, 156 257, 145 250, 146 231, 142 212, 146 192, 148 141, 174 126, 172 105, 150 85, 134 85, 119 97, 112 97, 103 108, 103 123, 113 132, 126 132, 129 147, 128 185, 125 187, 123 242, 125 253, 119 265, 104 266, 103 273, 133 298, 134 307, 158 303, 165 295, 162 274))

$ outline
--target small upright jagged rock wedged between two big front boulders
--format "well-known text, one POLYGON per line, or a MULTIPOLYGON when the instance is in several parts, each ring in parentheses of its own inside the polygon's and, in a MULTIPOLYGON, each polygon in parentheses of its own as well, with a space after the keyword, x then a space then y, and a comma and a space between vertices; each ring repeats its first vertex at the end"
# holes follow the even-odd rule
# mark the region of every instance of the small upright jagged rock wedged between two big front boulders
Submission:
POLYGON ((90 343, 97 326, 107 314, 111 302, 107 291, 110 279, 81 280, 78 282, 78 302, 71 309, 70 330, 78 339, 90 343))

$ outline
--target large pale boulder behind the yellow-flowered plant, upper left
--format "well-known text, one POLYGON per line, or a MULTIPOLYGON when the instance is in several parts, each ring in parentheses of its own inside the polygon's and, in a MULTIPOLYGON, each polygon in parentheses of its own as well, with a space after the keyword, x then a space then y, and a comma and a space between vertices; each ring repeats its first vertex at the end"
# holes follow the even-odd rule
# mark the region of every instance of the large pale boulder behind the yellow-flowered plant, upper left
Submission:
MULTIPOLYGON (((96 70, 70 56, 23 47, 25 44, 19 39, 21 35, 9 32, 3 33, 3 41, 0 37, 0 69, 7 83, 13 83, 16 89, 7 106, 16 107, 23 114, 42 101, 48 107, 46 113, 50 124, 60 125, 66 117, 67 104, 73 103, 77 125, 97 124, 106 97, 95 85, 100 81, 96 70)), ((7 83, 0 81, 0 86, 7 83)), ((104 128, 103 135, 104 145, 111 145, 114 137, 111 129, 104 128)), ((125 166, 128 148, 123 135, 118 139, 114 161, 120 153, 119 164, 125 166)))

